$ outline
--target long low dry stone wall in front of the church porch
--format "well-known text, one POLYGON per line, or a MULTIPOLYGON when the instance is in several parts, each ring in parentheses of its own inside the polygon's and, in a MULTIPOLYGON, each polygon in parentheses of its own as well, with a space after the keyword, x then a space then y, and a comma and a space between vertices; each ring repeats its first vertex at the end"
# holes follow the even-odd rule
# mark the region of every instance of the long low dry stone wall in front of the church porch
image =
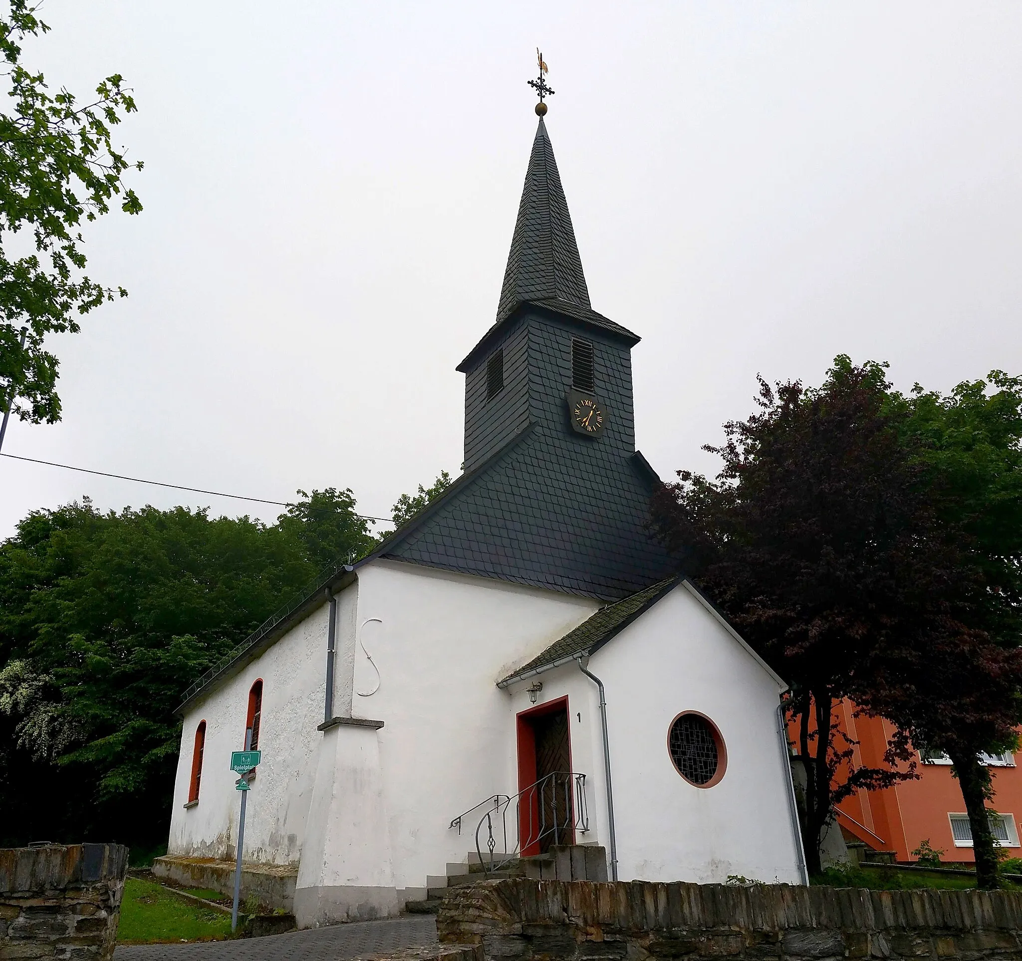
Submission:
POLYGON ((479 961, 1007 961, 1022 959, 1022 895, 514 878, 453 889, 437 927, 479 961))

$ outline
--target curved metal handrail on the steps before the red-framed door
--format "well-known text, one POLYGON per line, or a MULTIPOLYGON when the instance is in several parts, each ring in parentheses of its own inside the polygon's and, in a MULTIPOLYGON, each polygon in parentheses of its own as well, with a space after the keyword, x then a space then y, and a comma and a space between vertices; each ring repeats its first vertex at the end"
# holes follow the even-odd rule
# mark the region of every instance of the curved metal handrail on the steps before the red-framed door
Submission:
MULTIPOLYGON (((553 835, 556 840, 567 831, 578 831, 585 834, 589 831, 589 810, 586 805, 586 775, 569 771, 554 771, 540 778, 535 784, 522 788, 517 794, 494 794, 475 809, 469 809, 465 814, 495 802, 494 807, 483 814, 475 828, 475 854, 482 865, 485 874, 499 871, 512 861, 521 857, 521 852, 540 844, 545 838, 553 835), (563 802, 563 812, 558 811, 558 794, 563 802), (500 800, 500 797, 504 800, 500 800), (522 808, 522 804, 526 806, 522 808), (514 809, 511 830, 508 830, 508 813, 514 809), (525 832, 522 837, 522 812, 527 813, 525 832), (548 823, 549 820, 549 823, 548 823), (484 834, 484 839, 481 835, 484 834), (508 849, 508 839, 514 843, 508 849), (504 849, 497 851, 498 839, 503 841, 504 849), (483 856, 482 849, 486 854, 483 856), (498 860, 498 854, 500 859, 498 860)), ((460 822, 464 815, 451 822, 460 822)), ((460 831, 460 824, 459 824, 460 831)))

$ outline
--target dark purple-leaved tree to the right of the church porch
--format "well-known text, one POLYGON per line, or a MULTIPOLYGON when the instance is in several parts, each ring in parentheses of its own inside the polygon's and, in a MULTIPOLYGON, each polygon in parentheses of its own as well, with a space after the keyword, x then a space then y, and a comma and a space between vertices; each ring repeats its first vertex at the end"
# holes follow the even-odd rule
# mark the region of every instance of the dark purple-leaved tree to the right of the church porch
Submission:
MULTIPOLYGON (((882 365, 847 357, 817 388, 760 378, 758 412, 707 448, 717 477, 679 471, 654 493, 651 523, 791 684, 810 873, 834 805, 915 777, 912 743, 925 741, 957 759, 988 885, 993 842, 971 784, 985 775, 977 753, 1013 736, 1022 662, 990 630, 979 539, 919 427, 922 397, 934 396, 895 394, 882 365), (882 768, 854 769, 852 743, 835 739, 844 697, 897 724, 882 768)), ((1012 620, 1002 611, 1003 627, 1012 620)))

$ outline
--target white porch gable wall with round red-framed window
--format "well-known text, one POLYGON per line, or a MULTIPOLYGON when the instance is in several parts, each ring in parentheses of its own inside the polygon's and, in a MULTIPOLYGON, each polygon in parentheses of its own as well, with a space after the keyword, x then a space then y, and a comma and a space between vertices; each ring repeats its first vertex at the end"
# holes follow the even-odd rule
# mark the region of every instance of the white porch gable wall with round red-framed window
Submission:
POLYGON ((801 883, 777 734, 782 684, 685 585, 594 654, 607 717, 621 879, 801 883), (685 711, 727 747, 724 778, 679 775, 667 732, 685 711))

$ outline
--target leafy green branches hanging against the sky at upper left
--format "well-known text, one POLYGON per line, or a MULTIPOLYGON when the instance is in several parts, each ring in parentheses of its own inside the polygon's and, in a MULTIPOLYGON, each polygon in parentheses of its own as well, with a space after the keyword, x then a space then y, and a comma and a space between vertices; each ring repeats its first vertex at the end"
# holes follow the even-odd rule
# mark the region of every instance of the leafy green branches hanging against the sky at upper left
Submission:
POLYGON ((21 44, 49 27, 36 7, 11 0, 0 19, 0 55, 7 71, 10 109, 0 112, 0 405, 11 388, 13 410, 22 420, 52 423, 60 418, 56 393, 57 359, 43 349, 48 333, 79 330, 87 314, 117 291, 84 274, 82 222, 108 213, 121 198, 127 214, 142 210, 123 181, 130 164, 112 143, 112 128, 135 110, 131 91, 119 74, 80 103, 65 88, 50 93, 41 73, 21 65, 21 44), (14 234, 31 231, 35 253, 14 234), (20 328, 25 347, 19 346, 20 328))

